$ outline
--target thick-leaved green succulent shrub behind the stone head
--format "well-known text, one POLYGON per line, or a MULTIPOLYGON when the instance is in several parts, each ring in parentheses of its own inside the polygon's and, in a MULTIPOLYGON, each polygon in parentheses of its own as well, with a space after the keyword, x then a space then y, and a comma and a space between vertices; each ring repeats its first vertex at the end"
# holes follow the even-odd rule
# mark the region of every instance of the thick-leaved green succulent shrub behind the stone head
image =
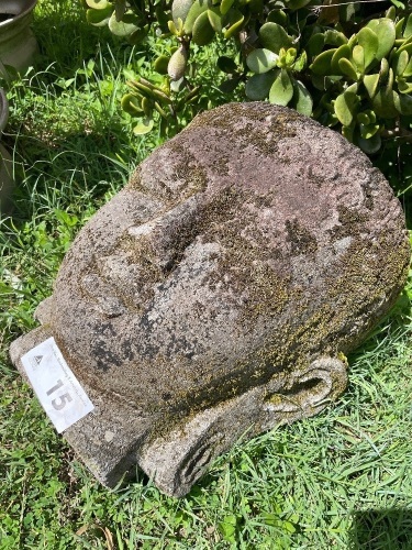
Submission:
POLYGON ((91 24, 108 24, 131 43, 149 40, 153 28, 154 52, 167 45, 154 58, 152 75, 131 79, 123 99, 136 134, 158 124, 164 134, 175 133, 180 119, 204 109, 204 82, 193 84, 196 62, 211 42, 231 40, 233 55, 218 59, 226 74, 223 92, 245 85, 246 98, 312 116, 369 155, 383 141, 412 140, 412 9, 401 2, 386 12, 379 2, 368 2, 364 12, 361 3, 329 7, 319 0, 83 3, 91 24))

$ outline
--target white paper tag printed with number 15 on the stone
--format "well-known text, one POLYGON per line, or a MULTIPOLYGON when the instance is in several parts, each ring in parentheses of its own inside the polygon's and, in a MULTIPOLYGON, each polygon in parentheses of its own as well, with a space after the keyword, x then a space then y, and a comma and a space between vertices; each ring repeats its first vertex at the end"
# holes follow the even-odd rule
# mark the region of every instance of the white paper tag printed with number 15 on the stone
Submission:
POLYGON ((42 407, 58 433, 93 410, 93 404, 64 360, 53 337, 23 355, 22 363, 42 407))

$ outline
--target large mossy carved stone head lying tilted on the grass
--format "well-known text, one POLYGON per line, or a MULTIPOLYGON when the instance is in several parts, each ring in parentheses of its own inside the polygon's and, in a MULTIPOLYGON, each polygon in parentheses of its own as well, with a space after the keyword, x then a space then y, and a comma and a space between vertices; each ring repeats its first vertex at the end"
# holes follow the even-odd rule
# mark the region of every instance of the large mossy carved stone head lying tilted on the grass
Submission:
POLYGON ((187 493, 243 433, 320 411, 410 249, 382 174, 286 108, 226 105, 157 148, 67 253, 43 326, 96 405, 65 437, 102 483, 187 493))

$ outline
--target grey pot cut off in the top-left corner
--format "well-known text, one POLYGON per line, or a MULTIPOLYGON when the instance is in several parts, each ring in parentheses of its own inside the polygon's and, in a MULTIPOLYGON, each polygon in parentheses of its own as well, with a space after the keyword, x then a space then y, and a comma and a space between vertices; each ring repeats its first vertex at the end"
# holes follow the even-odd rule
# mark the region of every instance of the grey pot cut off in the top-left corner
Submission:
MULTIPOLYGON (((0 62, 19 72, 25 70, 37 52, 37 42, 30 23, 37 0, 1 0, 0 62)), ((0 75, 3 67, 0 64, 0 75)))

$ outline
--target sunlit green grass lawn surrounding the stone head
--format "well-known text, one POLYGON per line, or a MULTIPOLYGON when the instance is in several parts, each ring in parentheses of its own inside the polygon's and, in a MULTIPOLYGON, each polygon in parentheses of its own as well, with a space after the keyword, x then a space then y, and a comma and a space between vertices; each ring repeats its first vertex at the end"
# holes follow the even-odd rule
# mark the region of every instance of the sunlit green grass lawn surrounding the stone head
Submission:
POLYGON ((411 549, 408 297, 349 358, 337 404, 240 441, 179 501, 140 471, 101 487, 10 364, 75 234, 159 143, 133 138, 119 109, 133 52, 81 18, 40 1, 37 72, 9 91, 20 185, 0 234, 0 549, 411 549))

